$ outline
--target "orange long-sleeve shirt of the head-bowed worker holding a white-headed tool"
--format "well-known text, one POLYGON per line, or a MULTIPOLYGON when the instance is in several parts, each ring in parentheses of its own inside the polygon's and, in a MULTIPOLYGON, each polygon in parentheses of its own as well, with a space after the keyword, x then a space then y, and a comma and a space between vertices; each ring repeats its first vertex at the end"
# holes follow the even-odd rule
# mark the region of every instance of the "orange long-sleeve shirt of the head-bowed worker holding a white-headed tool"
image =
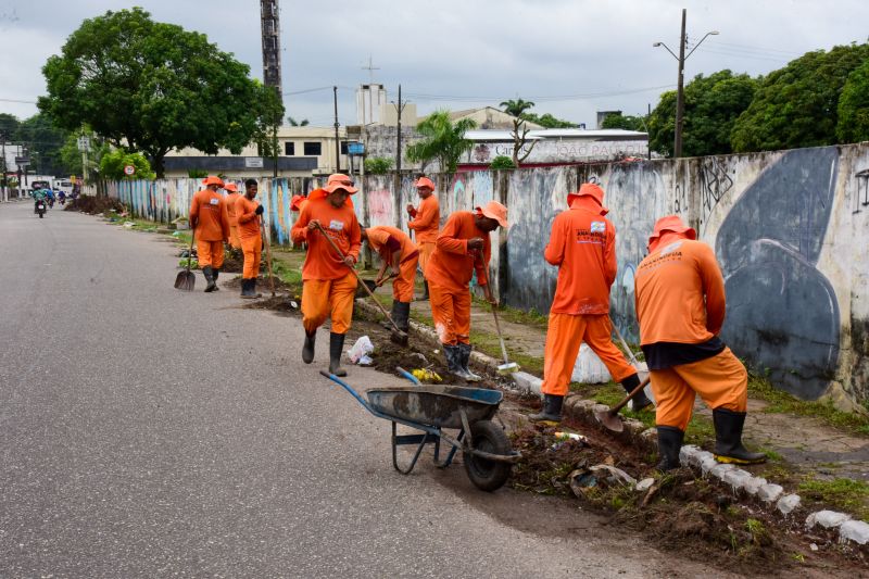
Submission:
POLYGON ((426 279, 449 291, 467 291, 468 282, 477 270, 477 284, 489 284, 489 260, 492 256, 492 242, 489 234, 477 228, 474 214, 457 211, 450 215, 438 236, 434 253, 426 265, 426 279), (482 252, 468 251, 468 239, 481 237, 482 252))

